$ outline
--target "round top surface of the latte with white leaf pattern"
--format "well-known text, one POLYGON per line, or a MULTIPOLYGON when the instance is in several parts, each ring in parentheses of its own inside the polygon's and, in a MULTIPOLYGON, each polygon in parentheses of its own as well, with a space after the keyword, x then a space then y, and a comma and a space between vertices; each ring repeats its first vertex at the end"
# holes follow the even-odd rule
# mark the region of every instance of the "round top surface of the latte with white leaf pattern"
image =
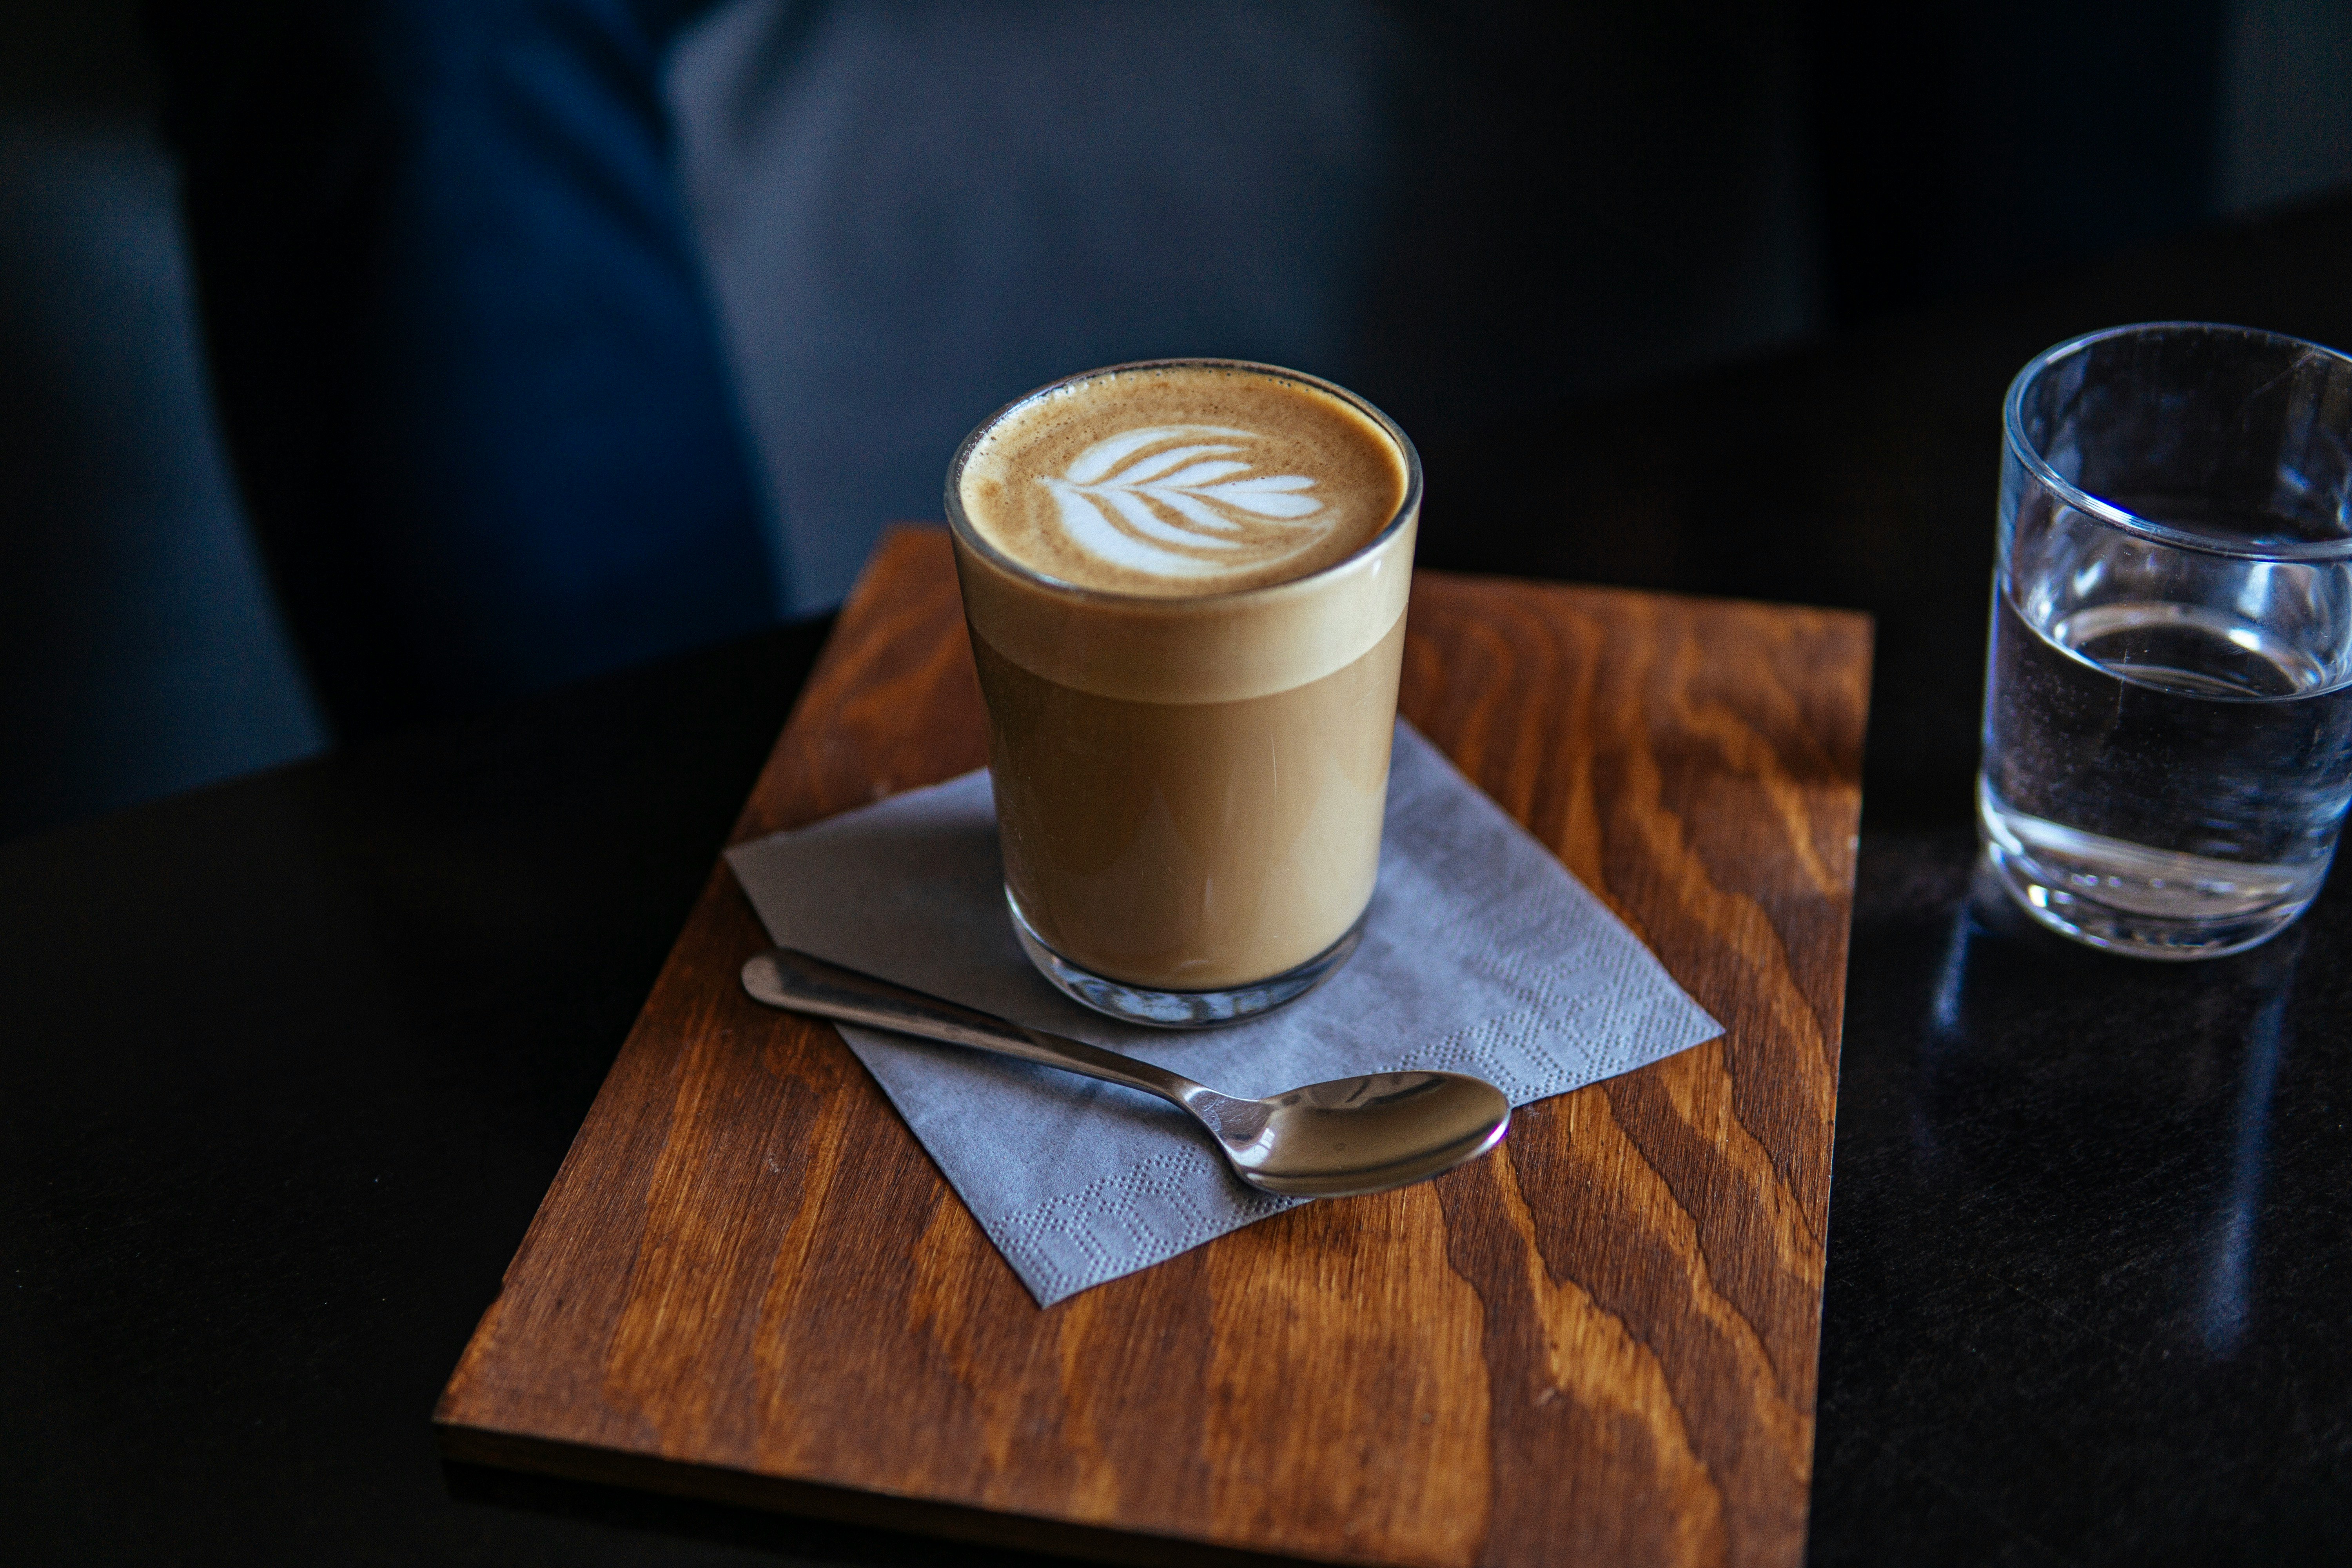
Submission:
POLYGON ((1150 364, 1007 409, 957 477, 997 550, 1080 588, 1192 597, 1308 576, 1397 515, 1397 444, 1322 388, 1237 364, 1150 364))

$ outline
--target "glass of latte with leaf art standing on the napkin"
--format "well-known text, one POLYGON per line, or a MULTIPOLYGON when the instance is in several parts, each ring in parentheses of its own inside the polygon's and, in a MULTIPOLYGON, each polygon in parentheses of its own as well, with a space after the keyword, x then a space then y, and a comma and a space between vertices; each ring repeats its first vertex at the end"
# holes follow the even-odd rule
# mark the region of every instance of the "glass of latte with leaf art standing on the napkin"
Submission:
POLYGON ((1395 421, 1270 364, 1112 364, 964 440, 1004 900, 1047 980, 1192 1027, 1355 952, 1418 515, 1395 421))

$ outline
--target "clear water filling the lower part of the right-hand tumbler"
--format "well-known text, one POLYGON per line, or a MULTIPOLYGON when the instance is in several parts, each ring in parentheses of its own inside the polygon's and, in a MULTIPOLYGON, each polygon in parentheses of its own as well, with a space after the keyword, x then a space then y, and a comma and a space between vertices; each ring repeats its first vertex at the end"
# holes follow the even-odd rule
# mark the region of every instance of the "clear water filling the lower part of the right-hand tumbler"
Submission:
POLYGON ((2263 940, 2319 889, 2352 797, 2347 569, 2187 559, 2063 505, 2023 524, 1992 597, 1994 863, 2093 943, 2263 940))

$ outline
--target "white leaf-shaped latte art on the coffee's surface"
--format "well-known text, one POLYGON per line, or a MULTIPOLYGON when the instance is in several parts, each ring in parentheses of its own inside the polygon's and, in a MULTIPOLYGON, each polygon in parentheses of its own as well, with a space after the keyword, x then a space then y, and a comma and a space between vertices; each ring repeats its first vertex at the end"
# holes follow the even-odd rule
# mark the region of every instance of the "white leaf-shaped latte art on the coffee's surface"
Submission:
POLYGON ((1152 576, 1214 576, 1296 555, 1329 524, 1296 522, 1324 510, 1305 494, 1315 480, 1249 475, 1235 454, 1254 440, 1228 425, 1122 430, 1040 484, 1089 555, 1152 576))

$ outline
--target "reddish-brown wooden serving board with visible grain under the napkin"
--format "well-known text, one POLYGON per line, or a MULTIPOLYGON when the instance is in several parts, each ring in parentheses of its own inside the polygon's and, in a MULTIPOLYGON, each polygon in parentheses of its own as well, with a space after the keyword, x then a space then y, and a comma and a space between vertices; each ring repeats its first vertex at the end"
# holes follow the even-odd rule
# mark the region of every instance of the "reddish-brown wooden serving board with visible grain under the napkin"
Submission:
MULTIPOLYGON (((713 870, 435 1415, 459 1460, 1124 1561, 1797 1563, 1870 628, 1423 574, 1404 712, 1719 1041, 1040 1309, 713 870)), ((736 839, 983 762, 898 531, 736 839)))

